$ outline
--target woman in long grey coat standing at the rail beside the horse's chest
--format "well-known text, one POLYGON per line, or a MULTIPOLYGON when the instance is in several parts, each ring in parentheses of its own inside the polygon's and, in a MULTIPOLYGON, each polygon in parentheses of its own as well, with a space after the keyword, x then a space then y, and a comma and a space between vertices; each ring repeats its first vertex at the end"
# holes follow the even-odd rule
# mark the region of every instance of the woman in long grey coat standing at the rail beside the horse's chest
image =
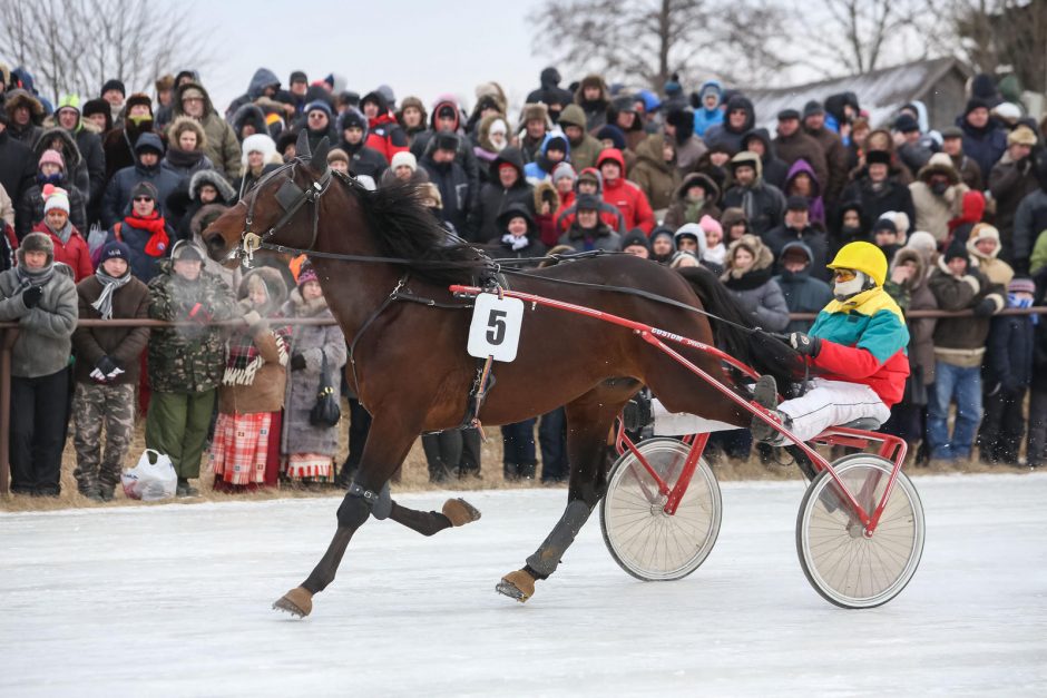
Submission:
MULTIPOLYGON (((331 309, 320 288, 320 277, 306 263, 299 274, 297 286, 284 305, 283 314, 294 318, 332 319, 331 309)), ((313 424, 310 413, 323 380, 337 385, 345 365, 346 348, 342 330, 336 325, 295 325, 291 337, 291 371, 287 373, 284 402, 283 446, 286 476, 292 480, 329 480, 337 454, 337 425, 313 424), (329 375, 322 375, 324 365, 329 375)))

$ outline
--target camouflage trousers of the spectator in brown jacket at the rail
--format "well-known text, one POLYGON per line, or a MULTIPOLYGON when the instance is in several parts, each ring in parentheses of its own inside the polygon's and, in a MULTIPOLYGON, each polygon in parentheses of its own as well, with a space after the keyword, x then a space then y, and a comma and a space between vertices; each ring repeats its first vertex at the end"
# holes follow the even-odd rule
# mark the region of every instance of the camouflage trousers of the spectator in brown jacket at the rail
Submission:
POLYGON ((77 468, 72 471, 81 492, 111 490, 120 482, 124 459, 135 435, 135 386, 77 383, 72 396, 74 446, 77 468), (101 429, 106 427, 102 453, 101 429))

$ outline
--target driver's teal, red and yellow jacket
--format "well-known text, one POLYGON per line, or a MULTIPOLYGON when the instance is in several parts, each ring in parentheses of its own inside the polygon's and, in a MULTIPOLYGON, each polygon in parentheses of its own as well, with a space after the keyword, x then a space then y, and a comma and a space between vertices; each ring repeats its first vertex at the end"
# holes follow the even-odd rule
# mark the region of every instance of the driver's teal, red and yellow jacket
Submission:
POLYGON ((888 407, 906 392, 909 331, 901 308, 877 286, 826 305, 809 333, 822 340, 811 360, 821 377, 868 385, 888 407))

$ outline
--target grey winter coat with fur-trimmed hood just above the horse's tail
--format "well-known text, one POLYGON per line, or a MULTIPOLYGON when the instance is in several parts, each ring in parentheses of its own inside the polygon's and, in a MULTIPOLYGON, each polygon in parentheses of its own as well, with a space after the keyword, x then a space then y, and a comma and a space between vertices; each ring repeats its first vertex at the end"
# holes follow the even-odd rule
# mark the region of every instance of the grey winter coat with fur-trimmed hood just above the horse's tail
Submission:
POLYGON ((782 332, 789 324, 789 306, 781 287, 771 276, 773 263, 771 250, 760 238, 743 235, 727 248, 727 268, 720 279, 754 325, 771 332, 782 332), (734 266, 734 250, 740 246, 747 248, 755 257, 745 272, 734 266))

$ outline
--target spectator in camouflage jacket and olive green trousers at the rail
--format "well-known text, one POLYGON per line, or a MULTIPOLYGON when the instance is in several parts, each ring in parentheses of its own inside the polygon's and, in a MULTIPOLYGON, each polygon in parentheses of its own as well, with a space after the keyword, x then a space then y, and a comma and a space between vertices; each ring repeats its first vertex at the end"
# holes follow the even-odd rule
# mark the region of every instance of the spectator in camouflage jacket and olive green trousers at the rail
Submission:
POLYGON ((170 458, 176 494, 196 497, 189 480, 199 478, 215 395, 225 370, 225 331, 216 322, 236 316, 236 299, 217 276, 203 269, 206 253, 188 240, 172 248, 149 282, 149 317, 190 321, 156 327, 149 338, 153 395, 146 416, 146 448, 170 458))

